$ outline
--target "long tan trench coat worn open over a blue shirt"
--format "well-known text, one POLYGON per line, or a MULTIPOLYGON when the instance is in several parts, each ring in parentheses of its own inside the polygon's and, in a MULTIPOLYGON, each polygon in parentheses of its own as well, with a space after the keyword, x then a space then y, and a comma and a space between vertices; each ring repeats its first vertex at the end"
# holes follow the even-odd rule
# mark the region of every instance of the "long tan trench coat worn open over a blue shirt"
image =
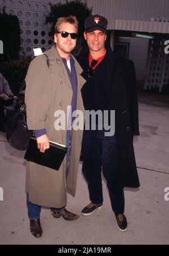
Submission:
MULTIPOLYGON (((47 66, 45 55, 36 57, 30 63, 26 75, 25 103, 28 128, 46 129, 49 140, 66 145, 66 130, 56 131, 54 113, 56 110, 67 111, 71 105, 72 86, 63 61, 55 46, 45 52, 50 60, 47 66), (61 104, 60 104, 61 103, 61 104)), ((77 110, 83 109, 81 88, 85 82, 82 68, 75 60, 77 71, 77 110)), ((29 192, 29 201, 37 205, 60 208, 66 205, 66 192, 75 196, 77 171, 83 131, 72 133, 72 152, 68 176, 65 175, 66 157, 59 171, 27 162, 26 192, 29 192)))

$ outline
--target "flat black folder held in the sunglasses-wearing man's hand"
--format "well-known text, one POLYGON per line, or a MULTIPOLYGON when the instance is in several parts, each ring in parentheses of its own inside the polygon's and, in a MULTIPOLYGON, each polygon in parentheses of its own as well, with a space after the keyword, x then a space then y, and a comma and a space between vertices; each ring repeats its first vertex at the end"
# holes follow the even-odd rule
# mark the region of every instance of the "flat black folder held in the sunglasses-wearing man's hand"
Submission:
POLYGON ((58 171, 68 149, 59 143, 49 142, 50 148, 46 149, 45 153, 41 153, 37 146, 37 140, 35 137, 31 137, 24 159, 58 171))

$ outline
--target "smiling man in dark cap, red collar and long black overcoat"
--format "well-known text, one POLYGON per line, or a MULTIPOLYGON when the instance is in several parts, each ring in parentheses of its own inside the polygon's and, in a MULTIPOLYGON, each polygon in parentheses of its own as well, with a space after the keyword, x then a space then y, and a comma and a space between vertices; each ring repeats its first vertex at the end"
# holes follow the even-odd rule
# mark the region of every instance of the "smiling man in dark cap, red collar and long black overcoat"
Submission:
POLYGON ((82 172, 91 202, 82 214, 90 215, 103 206, 102 166, 117 226, 126 231, 123 188, 140 186, 133 145, 133 136, 139 135, 136 76, 131 60, 117 57, 110 47, 105 49, 107 25, 108 21, 100 15, 85 20, 88 52, 79 58, 86 79, 81 90, 84 108, 103 113, 103 120, 96 115, 83 132, 82 172), (92 126, 94 122, 96 127, 92 126), (111 134, 113 127, 115 132, 111 134))

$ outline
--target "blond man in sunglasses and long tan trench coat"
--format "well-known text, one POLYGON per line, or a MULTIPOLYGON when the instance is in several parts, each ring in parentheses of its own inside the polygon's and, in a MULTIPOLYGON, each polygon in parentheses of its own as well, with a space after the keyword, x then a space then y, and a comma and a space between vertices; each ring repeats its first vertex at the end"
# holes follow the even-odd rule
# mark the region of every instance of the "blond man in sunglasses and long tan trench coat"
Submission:
POLYGON ((64 120, 56 125, 58 119, 55 117, 56 111, 62 110, 67 120, 67 106, 71 106, 72 111, 81 110, 84 113, 81 88, 85 80, 80 75, 82 69, 77 60, 70 54, 76 45, 77 31, 78 21, 74 16, 57 19, 54 35, 56 45, 30 63, 25 79, 27 123, 37 138, 39 150, 43 154, 49 148, 49 140, 68 147, 59 171, 27 162, 28 217, 30 231, 35 237, 42 235, 41 206, 51 207, 54 218, 79 218, 66 210, 65 206, 66 192, 75 196, 83 131, 69 131, 67 125, 72 125, 72 118, 65 126, 64 120))

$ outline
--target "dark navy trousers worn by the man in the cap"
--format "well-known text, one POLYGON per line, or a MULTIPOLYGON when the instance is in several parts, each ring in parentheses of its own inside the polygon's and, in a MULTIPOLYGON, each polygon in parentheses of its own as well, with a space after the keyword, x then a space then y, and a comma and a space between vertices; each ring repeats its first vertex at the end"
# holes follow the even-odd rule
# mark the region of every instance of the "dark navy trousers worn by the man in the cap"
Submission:
POLYGON ((105 136, 105 131, 84 131, 82 141, 82 172, 88 183, 90 200, 103 203, 101 166, 109 190, 112 209, 117 214, 124 213, 124 191, 118 173, 117 140, 105 136))

